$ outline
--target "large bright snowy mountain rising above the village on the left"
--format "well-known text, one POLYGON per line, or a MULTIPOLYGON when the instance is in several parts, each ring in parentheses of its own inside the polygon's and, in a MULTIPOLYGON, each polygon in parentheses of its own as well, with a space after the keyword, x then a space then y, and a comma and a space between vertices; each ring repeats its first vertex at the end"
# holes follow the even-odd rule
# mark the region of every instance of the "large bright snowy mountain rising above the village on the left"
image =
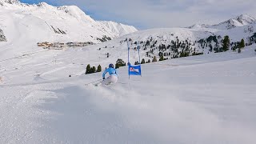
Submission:
MULTIPOLYGON (((78 6, 50 6, 46 2, 38 5, 28 5, 18 0, 1 0, 1 17, 7 18, 12 23, 22 23, 23 34, 40 34, 37 41, 50 42, 102 42, 102 38, 118 38, 122 34, 130 34, 134 31, 132 26, 114 24, 107 27, 102 22, 97 22, 86 15, 78 6)), ((7 40, 12 40, 12 30, 8 21, 0 22, 7 40)), ((16 33, 18 30, 16 31, 16 33)), ((17 35, 17 34, 12 34, 17 35)))

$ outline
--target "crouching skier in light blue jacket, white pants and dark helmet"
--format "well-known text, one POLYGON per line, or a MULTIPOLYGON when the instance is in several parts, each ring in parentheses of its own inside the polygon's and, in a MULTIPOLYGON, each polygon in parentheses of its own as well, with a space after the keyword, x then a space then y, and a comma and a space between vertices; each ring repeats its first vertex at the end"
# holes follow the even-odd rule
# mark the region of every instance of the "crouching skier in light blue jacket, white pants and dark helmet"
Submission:
POLYGON ((114 69, 114 65, 112 63, 110 63, 109 68, 103 72, 102 78, 103 78, 102 84, 104 85, 110 85, 111 83, 118 82, 118 74, 117 74, 117 71, 114 69), (108 78, 105 78, 106 73, 110 74, 108 78))

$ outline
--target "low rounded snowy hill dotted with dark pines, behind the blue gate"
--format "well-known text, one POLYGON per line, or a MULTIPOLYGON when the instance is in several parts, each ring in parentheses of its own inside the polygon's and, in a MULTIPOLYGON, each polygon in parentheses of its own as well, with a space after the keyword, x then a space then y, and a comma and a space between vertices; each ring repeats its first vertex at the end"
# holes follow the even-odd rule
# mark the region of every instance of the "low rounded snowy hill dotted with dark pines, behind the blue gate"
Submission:
MULTIPOLYGON (((231 30, 216 30, 216 29, 186 29, 186 28, 163 28, 163 29, 151 29, 140 30, 132 34, 127 34, 123 37, 114 39, 110 42, 104 42, 94 47, 95 52, 99 55, 110 53, 113 55, 110 58, 115 58, 112 62, 118 58, 127 59, 127 44, 129 41, 131 51, 134 57, 131 58, 132 63, 138 61, 137 51, 134 48, 137 46, 136 42, 139 42, 141 46, 141 56, 146 61, 152 61, 153 57, 159 58, 159 53, 164 54, 164 58, 176 58, 181 56, 180 53, 184 50, 189 51, 189 55, 193 54, 210 54, 214 53, 222 48, 222 39, 228 35, 230 38, 230 50, 234 47, 234 43, 241 42, 242 38, 246 44, 254 41, 249 41, 254 33, 256 33, 256 25, 239 26, 231 30), (206 39, 216 38, 216 41, 206 39), (203 42, 201 42, 203 41, 203 42), (212 46, 212 48, 210 48, 212 46), (106 47, 106 48, 105 48, 106 47), (160 48, 161 47, 161 48, 160 48), (98 48, 102 48, 98 50, 98 48), (216 50, 215 50, 216 49, 216 50), (218 49, 218 50, 217 50, 218 49), (120 54, 118 54, 120 52, 120 54), (179 53, 179 54, 178 54, 179 53), (118 54, 118 55, 117 55, 118 54)), ((98 55, 96 54, 96 55, 98 55)))

